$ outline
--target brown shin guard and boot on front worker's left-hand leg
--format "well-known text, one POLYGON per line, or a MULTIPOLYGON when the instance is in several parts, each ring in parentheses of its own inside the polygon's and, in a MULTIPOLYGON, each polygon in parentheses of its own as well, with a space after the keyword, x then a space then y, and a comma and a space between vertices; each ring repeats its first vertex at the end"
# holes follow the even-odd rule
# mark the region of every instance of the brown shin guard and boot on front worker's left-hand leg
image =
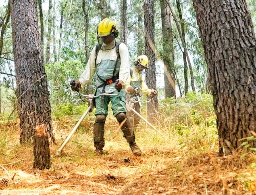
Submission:
POLYGON ((96 154, 103 154, 104 142, 104 125, 106 121, 106 116, 97 115, 94 123, 94 147, 96 149, 96 154))

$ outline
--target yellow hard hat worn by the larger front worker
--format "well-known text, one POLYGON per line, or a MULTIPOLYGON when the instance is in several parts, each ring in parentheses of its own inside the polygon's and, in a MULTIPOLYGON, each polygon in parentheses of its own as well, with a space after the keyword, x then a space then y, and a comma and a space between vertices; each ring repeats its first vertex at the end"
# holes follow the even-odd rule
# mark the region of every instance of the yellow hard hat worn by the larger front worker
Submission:
POLYGON ((97 36, 105 37, 114 33, 114 37, 118 36, 117 25, 110 19, 104 18, 98 25, 97 36))

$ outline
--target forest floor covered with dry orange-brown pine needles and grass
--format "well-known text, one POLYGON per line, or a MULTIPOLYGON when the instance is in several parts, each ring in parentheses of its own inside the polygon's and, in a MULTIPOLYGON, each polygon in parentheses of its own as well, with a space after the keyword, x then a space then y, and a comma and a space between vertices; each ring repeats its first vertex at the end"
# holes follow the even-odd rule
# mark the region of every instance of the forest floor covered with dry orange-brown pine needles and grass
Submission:
POLYGON ((0 177, 10 182, 0 194, 256 194, 255 155, 219 157, 217 139, 201 137, 196 129, 184 138, 165 129, 160 135, 142 123, 136 141, 143 155, 135 157, 108 117, 105 154, 97 156, 86 118, 63 154, 55 156, 76 121, 54 121, 49 170, 33 170, 33 146, 19 144, 17 123, 2 125, 0 165, 6 171, 0 167, 0 177))

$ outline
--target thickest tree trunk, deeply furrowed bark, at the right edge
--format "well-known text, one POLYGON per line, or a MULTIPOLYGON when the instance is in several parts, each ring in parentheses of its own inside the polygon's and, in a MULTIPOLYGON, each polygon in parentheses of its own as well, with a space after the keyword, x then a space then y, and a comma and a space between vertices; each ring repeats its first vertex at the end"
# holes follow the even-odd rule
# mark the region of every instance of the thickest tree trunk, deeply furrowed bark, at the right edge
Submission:
MULTIPOLYGON (((256 39, 245 1, 193 0, 210 73, 219 154, 256 131, 256 39)), ((250 145, 256 147, 256 140, 250 145)))

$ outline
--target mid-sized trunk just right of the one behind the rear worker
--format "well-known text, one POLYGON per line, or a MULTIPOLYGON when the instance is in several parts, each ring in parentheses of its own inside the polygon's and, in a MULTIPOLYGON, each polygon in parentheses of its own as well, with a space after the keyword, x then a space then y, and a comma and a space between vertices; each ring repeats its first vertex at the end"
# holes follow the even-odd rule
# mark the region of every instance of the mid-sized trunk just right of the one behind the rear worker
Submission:
POLYGON ((164 61, 164 97, 175 96, 173 29, 171 25, 171 10, 165 0, 160 1, 162 18, 163 61, 164 61))

